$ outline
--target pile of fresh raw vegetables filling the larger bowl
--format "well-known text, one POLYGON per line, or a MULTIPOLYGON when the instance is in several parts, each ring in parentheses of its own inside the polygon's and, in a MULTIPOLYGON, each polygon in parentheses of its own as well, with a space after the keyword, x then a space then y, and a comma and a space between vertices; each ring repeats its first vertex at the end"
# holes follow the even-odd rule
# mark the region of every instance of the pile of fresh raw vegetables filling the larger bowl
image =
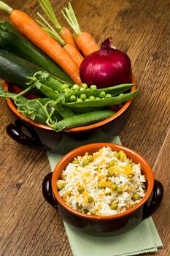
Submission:
POLYGON ((109 118, 115 113, 109 107, 138 92, 129 92, 134 86, 130 59, 113 49, 110 39, 99 50, 93 37, 80 30, 71 4, 62 13, 75 40, 56 19, 50 2, 39 4, 55 29, 39 13, 41 21, 35 22, 0 1, 0 10, 9 13, 13 24, 0 21, 0 78, 23 89, 13 94, 0 88, 0 97, 11 98, 24 116, 57 132, 109 118), (24 97, 28 91, 38 98, 24 97))

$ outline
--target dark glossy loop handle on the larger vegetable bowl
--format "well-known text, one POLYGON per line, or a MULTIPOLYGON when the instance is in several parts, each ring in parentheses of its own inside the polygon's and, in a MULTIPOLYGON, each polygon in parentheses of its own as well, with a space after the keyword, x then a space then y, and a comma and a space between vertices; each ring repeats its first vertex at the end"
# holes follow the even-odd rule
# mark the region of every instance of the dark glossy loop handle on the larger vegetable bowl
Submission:
POLYGON ((39 140, 39 137, 36 134, 36 131, 34 130, 34 128, 28 127, 27 124, 23 123, 23 121, 19 119, 17 119, 14 124, 8 124, 6 128, 6 132, 10 138, 12 138, 16 142, 24 146, 31 146, 33 148, 47 150, 47 148, 39 140), (31 137, 24 134, 24 132, 22 131, 22 127, 24 127, 28 131, 31 137))

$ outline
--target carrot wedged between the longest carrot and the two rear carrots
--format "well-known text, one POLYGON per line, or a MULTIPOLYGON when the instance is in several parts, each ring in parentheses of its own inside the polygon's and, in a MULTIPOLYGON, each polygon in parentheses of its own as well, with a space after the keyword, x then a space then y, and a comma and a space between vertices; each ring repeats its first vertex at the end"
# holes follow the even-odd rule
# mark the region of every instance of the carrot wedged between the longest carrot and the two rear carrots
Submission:
POLYGON ((63 49, 69 54, 69 56, 77 64, 77 67, 80 67, 80 64, 84 59, 81 53, 76 48, 74 48, 71 44, 66 43, 60 37, 60 35, 55 31, 55 29, 53 29, 53 27, 50 26, 50 23, 48 23, 47 20, 45 20, 45 18, 39 12, 37 12, 37 15, 39 16, 39 18, 41 18, 41 20, 43 20, 44 23, 42 23, 39 20, 36 20, 36 22, 39 23, 39 25, 42 26, 42 29, 44 29, 48 34, 50 34, 51 37, 53 37, 57 42, 59 42, 59 44, 63 47, 63 49))

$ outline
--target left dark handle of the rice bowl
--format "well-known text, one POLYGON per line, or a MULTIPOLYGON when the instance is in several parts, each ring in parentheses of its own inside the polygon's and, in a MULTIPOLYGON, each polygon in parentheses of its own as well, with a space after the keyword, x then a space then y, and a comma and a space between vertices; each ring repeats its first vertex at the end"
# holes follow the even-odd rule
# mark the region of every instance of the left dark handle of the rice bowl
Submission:
POLYGON ((51 186, 51 178, 53 173, 48 173, 44 180, 42 181, 42 194, 45 197, 47 203, 50 203, 58 211, 58 202, 55 200, 53 196, 52 186, 51 186))

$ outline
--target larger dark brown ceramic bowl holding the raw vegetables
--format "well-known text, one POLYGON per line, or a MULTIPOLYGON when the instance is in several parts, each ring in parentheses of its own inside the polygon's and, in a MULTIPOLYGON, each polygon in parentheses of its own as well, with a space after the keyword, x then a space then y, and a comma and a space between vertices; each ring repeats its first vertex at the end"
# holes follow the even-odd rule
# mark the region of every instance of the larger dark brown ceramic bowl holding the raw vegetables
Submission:
MULTIPOLYGON (((131 78, 131 83, 135 83, 134 77, 131 78)), ((18 87, 12 86, 10 83, 5 83, 4 89, 18 93, 18 87)), ((135 90, 136 85, 131 88, 131 91, 135 90)), ((36 122, 31 121, 31 119, 23 116, 18 112, 12 100, 7 99, 7 106, 16 120, 14 124, 9 124, 7 126, 7 133, 18 143, 49 151, 57 151, 58 143, 63 138, 63 135, 69 135, 76 140, 90 137, 93 138, 94 132, 96 131, 102 131, 109 136, 116 136, 120 133, 121 129, 123 129, 125 123, 128 121, 132 101, 133 100, 131 99, 130 101, 126 102, 115 115, 105 119, 104 121, 84 127, 64 129, 62 132, 55 132, 54 129, 43 124, 37 124, 36 122), (25 128, 25 131, 27 130, 27 132, 23 132, 23 127, 25 128)))

